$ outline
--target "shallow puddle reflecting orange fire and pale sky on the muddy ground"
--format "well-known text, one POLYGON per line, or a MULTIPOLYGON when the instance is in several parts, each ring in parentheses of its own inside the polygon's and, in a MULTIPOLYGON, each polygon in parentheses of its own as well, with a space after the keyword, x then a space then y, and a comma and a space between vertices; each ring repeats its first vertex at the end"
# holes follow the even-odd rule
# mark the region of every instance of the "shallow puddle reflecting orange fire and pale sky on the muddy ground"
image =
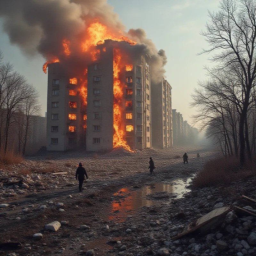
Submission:
POLYGON ((186 188, 190 181, 191 179, 155 183, 138 190, 122 188, 114 194, 115 200, 111 204, 108 220, 122 222, 140 207, 169 204, 173 198, 181 198, 190 191, 186 188), (156 195, 155 198, 154 195, 156 195), (150 200, 149 197, 153 200, 150 200))

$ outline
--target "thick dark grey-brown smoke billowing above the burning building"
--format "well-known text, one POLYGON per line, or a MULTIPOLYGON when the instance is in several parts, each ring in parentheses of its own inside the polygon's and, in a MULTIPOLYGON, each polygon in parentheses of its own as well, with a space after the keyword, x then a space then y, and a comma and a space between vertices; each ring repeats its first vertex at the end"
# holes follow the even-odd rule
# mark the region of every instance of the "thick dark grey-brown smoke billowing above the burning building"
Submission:
MULTIPOLYGON (((65 38, 72 42, 69 61, 76 66, 86 62, 86 54, 81 56, 78 49, 88 23, 97 18, 113 34, 125 29, 107 0, 0 0, 0 6, 3 28, 12 44, 28 56, 40 53, 46 60, 58 57, 66 62, 62 47, 65 38)), ((143 29, 130 29, 127 36, 138 42, 132 47, 134 56, 151 57, 153 82, 161 81, 167 61, 164 50, 157 51, 143 29)))

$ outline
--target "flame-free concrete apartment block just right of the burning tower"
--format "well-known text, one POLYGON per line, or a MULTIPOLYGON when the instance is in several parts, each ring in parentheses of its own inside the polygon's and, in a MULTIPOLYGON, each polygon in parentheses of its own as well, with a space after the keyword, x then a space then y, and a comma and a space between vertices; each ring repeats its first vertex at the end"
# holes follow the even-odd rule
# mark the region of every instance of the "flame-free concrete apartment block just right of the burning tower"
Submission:
POLYGON ((154 84, 152 91, 152 146, 153 148, 172 147, 172 87, 162 78, 154 84))

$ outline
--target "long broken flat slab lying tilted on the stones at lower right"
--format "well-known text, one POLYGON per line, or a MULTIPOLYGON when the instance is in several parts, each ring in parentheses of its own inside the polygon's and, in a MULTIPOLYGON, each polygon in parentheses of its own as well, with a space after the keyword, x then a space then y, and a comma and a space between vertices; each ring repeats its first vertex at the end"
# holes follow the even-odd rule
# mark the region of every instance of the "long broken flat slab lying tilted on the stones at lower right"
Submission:
POLYGON ((186 236, 189 233, 192 233, 196 230, 198 230, 200 233, 206 233, 212 227, 217 227, 225 219, 227 213, 230 212, 231 210, 231 207, 227 206, 215 209, 205 214, 203 217, 190 223, 188 227, 185 228, 185 230, 183 230, 183 232, 180 233, 178 236, 172 237, 172 240, 177 240, 180 237, 186 236))

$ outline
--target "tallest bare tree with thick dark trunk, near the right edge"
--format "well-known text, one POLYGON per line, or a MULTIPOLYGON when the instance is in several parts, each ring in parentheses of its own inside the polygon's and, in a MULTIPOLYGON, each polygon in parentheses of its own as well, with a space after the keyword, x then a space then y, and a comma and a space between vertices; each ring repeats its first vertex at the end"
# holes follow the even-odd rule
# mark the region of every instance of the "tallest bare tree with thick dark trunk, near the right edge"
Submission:
POLYGON ((202 53, 212 53, 211 60, 219 69, 234 63, 241 72, 241 114, 239 116, 240 163, 245 162, 244 125, 250 105, 251 91, 256 77, 256 1, 221 0, 218 12, 209 12, 210 21, 202 32, 210 48, 202 53))

